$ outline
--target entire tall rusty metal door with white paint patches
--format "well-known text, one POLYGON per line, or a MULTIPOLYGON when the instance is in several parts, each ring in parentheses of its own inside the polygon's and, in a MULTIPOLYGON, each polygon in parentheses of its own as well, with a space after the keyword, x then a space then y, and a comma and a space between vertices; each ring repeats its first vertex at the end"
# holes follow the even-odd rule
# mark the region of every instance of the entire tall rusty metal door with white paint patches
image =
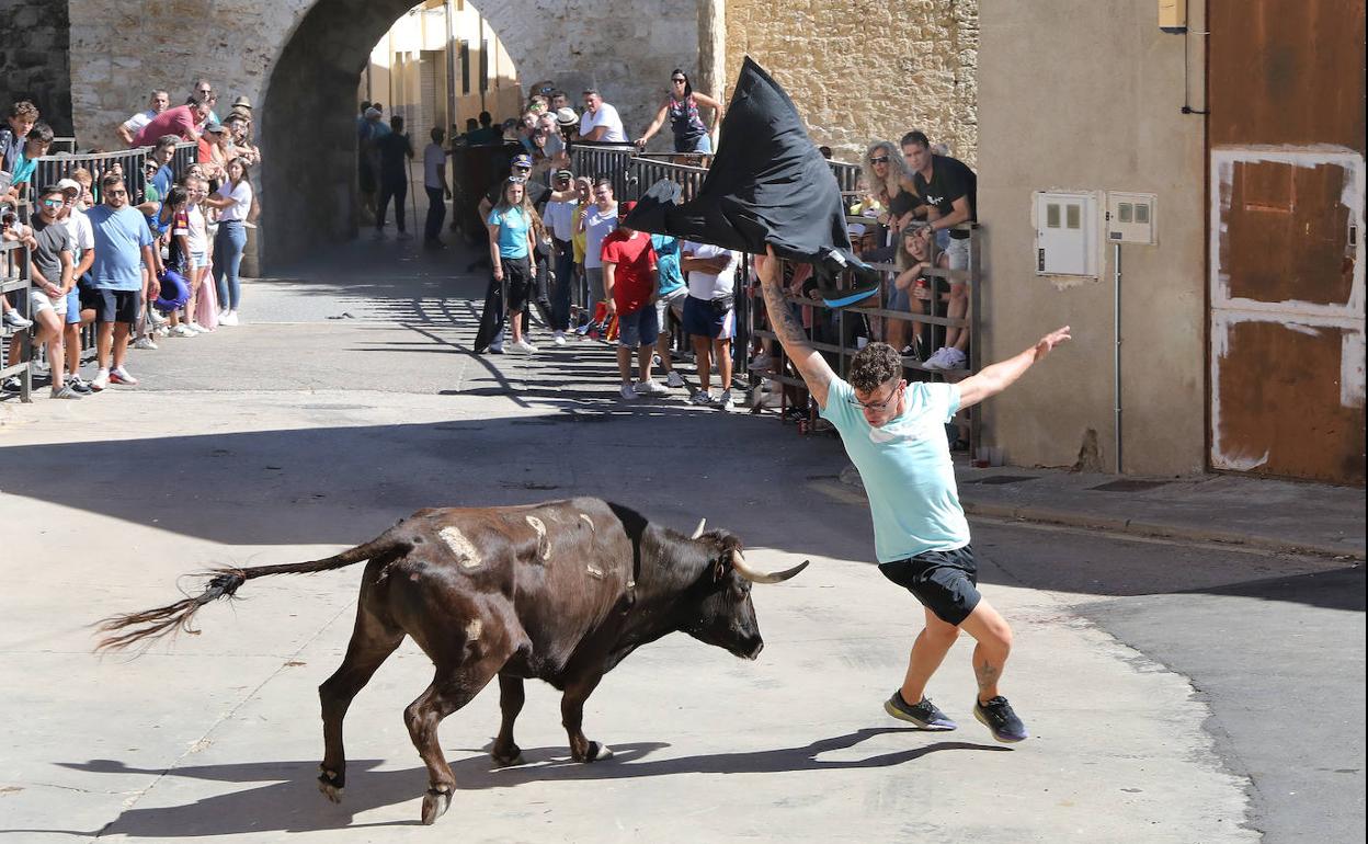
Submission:
POLYGON ((1211 465, 1364 483, 1365 0, 1209 0, 1211 465))

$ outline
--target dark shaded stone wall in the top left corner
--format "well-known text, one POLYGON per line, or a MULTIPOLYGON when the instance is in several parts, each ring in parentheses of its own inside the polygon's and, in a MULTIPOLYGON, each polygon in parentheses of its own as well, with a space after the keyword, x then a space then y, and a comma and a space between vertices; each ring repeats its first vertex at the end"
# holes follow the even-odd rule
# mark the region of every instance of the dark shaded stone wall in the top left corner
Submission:
POLYGON ((0 3, 0 108, 31 100, 57 135, 71 134, 66 0, 0 3))

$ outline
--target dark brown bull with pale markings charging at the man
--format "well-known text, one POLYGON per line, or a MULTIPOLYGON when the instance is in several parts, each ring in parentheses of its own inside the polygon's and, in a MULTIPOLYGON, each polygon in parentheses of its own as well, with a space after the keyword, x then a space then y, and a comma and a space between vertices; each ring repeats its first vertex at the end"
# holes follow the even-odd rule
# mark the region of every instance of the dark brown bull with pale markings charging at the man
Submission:
POLYGON ((605 672, 637 647, 683 631, 737 657, 759 655, 763 642, 751 583, 788 580, 807 562, 757 572, 746 564, 736 536, 702 531, 700 523, 694 536, 684 536, 596 498, 419 510, 378 539, 327 559, 220 569, 196 598, 104 621, 101 629, 109 636, 98 647, 119 648, 185 629, 201 606, 231 596, 256 577, 369 561, 346 658, 319 687, 324 741, 319 788, 328 799, 341 799, 347 706, 404 636, 413 636, 436 668, 432 684, 404 710, 428 767, 423 822, 432 823, 456 785, 438 725, 495 674, 503 713, 492 748, 498 763, 520 761, 513 721, 523 709, 523 680, 531 677, 565 692, 561 718, 570 754, 576 762, 592 762, 613 751, 584 737, 584 702, 605 672))

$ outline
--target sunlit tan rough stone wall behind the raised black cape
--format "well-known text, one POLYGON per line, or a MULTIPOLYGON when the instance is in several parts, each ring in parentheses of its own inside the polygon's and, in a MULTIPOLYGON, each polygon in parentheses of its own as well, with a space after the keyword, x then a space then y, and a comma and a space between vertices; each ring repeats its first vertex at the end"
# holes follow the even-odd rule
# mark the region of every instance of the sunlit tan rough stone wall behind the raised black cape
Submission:
POLYGON ((728 86, 747 55, 837 159, 912 129, 977 159, 978 0, 726 0, 728 86))

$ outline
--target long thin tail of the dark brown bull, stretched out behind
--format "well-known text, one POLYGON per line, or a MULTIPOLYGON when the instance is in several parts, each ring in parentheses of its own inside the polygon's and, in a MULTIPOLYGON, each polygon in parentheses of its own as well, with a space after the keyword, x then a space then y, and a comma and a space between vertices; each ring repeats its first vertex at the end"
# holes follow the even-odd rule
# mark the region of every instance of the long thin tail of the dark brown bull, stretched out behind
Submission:
POLYGON ((111 616, 96 622, 96 629, 105 633, 105 636, 98 644, 96 644, 94 650, 116 651, 137 642, 152 644, 155 640, 179 631, 194 633, 197 631, 190 627, 190 621, 194 618, 194 614, 200 611, 200 607, 213 603, 220 598, 233 598, 238 591, 238 587, 248 580, 265 577, 268 575, 313 575, 316 572, 341 569, 343 566, 361 562, 363 559, 394 557, 404 554, 410 549, 412 546, 408 540, 393 536, 393 532, 386 532, 365 544, 356 546, 354 549, 349 549, 341 554, 326 557, 323 559, 291 562, 285 565, 259 565, 246 569, 213 569, 207 572, 209 583, 205 584, 204 591, 198 595, 186 596, 175 603, 168 603, 152 610, 142 610, 141 613, 111 616))

